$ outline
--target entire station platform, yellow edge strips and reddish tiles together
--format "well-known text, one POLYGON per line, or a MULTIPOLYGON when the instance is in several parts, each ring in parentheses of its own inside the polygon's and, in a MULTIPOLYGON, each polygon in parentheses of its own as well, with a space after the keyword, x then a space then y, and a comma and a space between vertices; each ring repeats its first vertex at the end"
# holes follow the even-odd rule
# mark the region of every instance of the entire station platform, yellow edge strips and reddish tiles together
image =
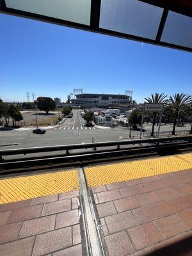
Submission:
MULTIPOLYGON (((192 255, 192 154, 84 174, 106 255, 192 255)), ((0 188, 2 255, 86 255, 77 170, 1 179, 0 188)))

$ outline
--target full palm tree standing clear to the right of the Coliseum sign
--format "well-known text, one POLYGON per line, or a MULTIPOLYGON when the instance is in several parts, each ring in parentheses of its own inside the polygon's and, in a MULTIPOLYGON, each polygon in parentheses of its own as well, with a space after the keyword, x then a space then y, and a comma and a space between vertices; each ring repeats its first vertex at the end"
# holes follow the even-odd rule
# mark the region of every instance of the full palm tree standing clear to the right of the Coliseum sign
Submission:
POLYGON ((175 135, 177 119, 188 118, 190 113, 189 103, 191 99, 191 95, 184 93, 175 93, 173 97, 170 96, 170 99, 168 100, 168 106, 173 115, 173 135, 175 135))

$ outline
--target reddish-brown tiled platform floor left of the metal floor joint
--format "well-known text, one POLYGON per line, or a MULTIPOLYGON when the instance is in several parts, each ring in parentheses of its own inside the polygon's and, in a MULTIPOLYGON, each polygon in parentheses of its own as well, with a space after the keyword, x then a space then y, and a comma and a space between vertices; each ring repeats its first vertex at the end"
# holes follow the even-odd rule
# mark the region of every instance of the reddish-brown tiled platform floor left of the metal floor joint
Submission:
POLYGON ((0 255, 81 256, 79 191, 0 205, 0 255))

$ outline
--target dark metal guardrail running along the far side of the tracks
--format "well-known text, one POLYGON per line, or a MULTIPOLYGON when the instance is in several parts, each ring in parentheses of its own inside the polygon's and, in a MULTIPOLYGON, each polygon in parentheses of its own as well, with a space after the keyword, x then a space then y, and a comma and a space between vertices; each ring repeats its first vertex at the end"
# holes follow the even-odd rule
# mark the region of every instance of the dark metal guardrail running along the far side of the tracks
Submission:
POLYGON ((93 148, 93 150, 97 150, 99 147, 115 147, 119 150, 121 145, 135 145, 135 144, 143 144, 143 143, 156 143, 158 146, 159 143, 169 142, 169 141, 192 141, 191 136, 177 136, 177 137, 166 137, 166 138, 147 138, 141 140, 125 140, 125 141, 106 141, 106 142, 98 142, 98 143, 84 143, 84 144, 74 144, 74 145, 59 145, 59 146, 51 146, 51 147, 33 147, 33 148, 14 148, 14 149, 5 149, 0 150, 0 160, 3 160, 3 156, 11 156, 11 155, 19 155, 19 154, 32 154, 39 152, 53 152, 53 151, 66 151, 66 156, 69 156, 69 150, 75 149, 87 149, 93 148))

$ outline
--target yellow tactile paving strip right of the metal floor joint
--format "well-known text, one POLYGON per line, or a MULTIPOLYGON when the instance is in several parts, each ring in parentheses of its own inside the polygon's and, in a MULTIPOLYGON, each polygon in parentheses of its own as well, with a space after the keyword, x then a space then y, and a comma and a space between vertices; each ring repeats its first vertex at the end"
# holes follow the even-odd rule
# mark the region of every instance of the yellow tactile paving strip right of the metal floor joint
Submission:
POLYGON ((158 157, 85 168, 90 187, 192 168, 192 154, 158 157))

